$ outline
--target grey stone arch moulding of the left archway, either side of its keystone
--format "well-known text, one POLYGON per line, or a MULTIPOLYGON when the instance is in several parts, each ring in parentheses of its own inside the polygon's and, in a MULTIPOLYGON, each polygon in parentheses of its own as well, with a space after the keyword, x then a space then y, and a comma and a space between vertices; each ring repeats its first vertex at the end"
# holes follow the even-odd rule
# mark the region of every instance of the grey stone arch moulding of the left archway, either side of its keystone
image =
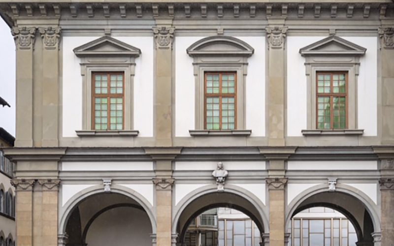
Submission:
MULTIPOLYGON (((102 187, 102 185, 95 185, 89 188, 86 188, 78 193, 76 193, 75 195, 73 195, 64 205, 64 210, 62 215, 60 216, 60 220, 59 220, 59 234, 65 234, 66 233, 66 225, 67 225, 67 221, 69 216, 72 213, 72 210, 79 204, 81 203, 83 200, 87 199, 88 197, 91 197, 92 195, 96 195, 96 194, 100 194, 100 193, 104 193, 104 189, 102 187)), ((152 233, 155 234, 156 233, 156 219, 155 219, 155 215, 153 213, 153 208, 150 205, 149 201, 146 200, 146 198, 144 198, 141 194, 139 194, 138 192, 122 186, 122 185, 116 185, 113 184, 111 185, 111 193, 117 193, 117 194, 121 194, 121 195, 125 195, 127 197, 130 197, 131 199, 135 200, 139 205, 141 205, 141 207, 143 208, 143 210, 147 213, 151 225, 152 225, 152 233)))

